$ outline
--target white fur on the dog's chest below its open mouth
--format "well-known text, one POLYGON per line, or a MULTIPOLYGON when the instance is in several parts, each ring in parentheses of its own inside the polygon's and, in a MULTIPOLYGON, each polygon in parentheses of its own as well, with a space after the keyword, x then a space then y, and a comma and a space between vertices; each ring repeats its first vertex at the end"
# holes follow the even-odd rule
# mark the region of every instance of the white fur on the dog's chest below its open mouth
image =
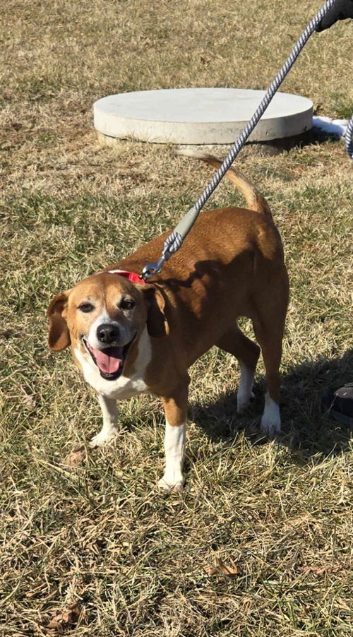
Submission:
POLYGON ((107 398, 123 400, 124 398, 131 398, 136 394, 148 391, 148 386, 145 383, 145 371, 151 359, 152 347, 147 328, 144 329, 138 340, 138 355, 133 364, 134 371, 131 376, 124 376, 123 371, 119 379, 107 381, 102 378, 97 366, 89 355, 81 352, 78 347, 75 348, 74 354, 82 367, 85 381, 87 381, 95 391, 107 396, 107 398))

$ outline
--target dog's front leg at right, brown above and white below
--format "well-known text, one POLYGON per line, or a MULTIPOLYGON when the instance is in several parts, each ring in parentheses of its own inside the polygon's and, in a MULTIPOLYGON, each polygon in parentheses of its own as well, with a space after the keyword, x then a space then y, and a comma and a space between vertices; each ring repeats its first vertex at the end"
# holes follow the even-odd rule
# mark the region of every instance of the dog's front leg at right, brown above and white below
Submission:
POLYGON ((164 491, 183 491, 183 462, 189 380, 172 397, 162 398, 165 413, 165 470, 158 482, 164 491))

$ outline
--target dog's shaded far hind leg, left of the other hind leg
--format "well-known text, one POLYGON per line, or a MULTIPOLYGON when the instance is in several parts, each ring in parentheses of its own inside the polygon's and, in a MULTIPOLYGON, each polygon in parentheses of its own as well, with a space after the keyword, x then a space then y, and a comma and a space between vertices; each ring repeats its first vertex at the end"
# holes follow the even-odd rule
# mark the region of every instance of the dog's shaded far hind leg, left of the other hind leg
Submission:
POLYGON ((237 412, 241 414, 253 398, 253 376, 260 354, 260 347, 247 338, 236 325, 230 328, 216 343, 221 350, 234 355, 240 366, 240 382, 237 393, 237 412))

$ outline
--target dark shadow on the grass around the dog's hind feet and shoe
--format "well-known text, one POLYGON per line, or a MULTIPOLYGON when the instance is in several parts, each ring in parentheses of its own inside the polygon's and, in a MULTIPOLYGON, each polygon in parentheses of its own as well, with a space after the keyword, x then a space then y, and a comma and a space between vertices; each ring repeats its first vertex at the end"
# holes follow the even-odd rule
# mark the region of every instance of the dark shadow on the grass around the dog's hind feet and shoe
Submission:
MULTIPOLYGON (((306 463, 349 449, 352 428, 331 419, 321 410, 321 395, 353 381, 353 350, 341 358, 317 359, 292 367, 283 375, 281 393, 282 432, 278 443, 287 446, 298 463, 306 463)), ((191 405, 191 419, 213 440, 229 440, 244 431, 252 444, 267 439, 259 429, 265 383, 254 387, 255 399, 245 415, 237 415, 237 391, 215 403, 191 405)))

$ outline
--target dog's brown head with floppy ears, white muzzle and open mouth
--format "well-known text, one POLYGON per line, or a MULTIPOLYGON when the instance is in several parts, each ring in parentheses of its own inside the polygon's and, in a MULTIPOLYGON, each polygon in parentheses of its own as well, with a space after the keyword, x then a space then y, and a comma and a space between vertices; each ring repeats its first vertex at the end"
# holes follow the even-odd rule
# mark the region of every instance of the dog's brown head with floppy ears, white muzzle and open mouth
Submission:
POLYGON ((161 292, 154 285, 134 285, 116 273, 91 275, 56 294, 47 314, 50 349, 78 347, 107 380, 119 378, 146 326, 152 337, 167 334, 161 292))

